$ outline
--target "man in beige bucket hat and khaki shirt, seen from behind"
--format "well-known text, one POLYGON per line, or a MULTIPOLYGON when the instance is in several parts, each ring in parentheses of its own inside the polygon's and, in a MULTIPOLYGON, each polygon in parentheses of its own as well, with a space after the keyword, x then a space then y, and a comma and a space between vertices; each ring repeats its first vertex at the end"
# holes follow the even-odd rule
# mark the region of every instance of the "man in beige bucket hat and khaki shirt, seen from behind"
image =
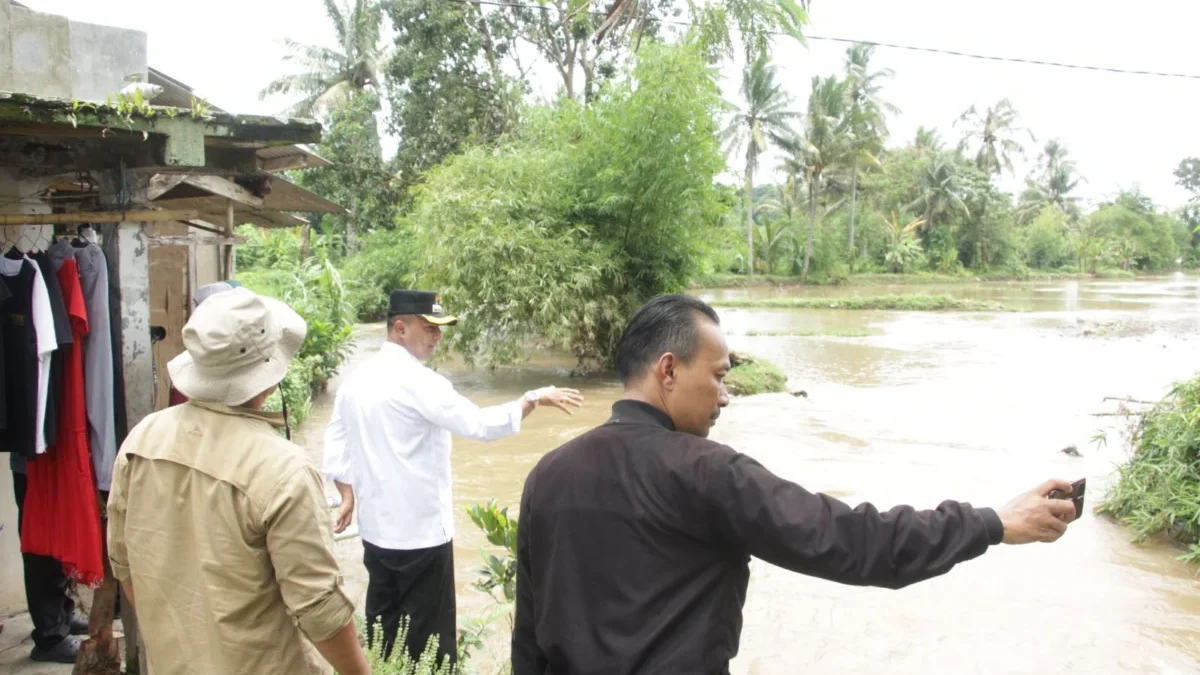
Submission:
POLYGON ((325 674, 322 657, 341 675, 370 671, 320 473, 278 435, 283 417, 262 410, 305 333, 277 300, 209 297, 167 366, 187 402, 121 446, 109 558, 156 675, 325 674))

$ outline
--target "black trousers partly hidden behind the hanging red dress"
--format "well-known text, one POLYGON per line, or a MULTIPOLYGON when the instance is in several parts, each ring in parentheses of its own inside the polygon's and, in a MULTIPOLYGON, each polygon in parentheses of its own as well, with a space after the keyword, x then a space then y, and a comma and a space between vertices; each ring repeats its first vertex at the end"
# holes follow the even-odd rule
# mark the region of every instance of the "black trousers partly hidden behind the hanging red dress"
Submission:
MULTIPOLYGON (((12 486, 17 495, 19 537, 28 488, 25 474, 13 473, 12 486)), ((68 622, 74 614, 74 601, 67 595, 70 583, 62 572, 62 563, 53 557, 32 554, 20 554, 20 557, 25 565, 25 604, 29 605, 29 617, 34 621, 34 646, 48 650, 71 633, 68 622)))

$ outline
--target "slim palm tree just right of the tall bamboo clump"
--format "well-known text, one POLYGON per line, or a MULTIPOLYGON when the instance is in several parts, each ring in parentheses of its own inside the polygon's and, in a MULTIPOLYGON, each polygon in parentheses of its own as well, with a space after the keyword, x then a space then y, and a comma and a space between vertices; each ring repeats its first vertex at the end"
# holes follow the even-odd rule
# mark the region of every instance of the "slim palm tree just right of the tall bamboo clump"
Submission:
POLYGON ((758 157, 770 144, 781 145, 793 136, 790 123, 799 115, 788 109, 792 97, 775 82, 775 67, 764 58, 746 66, 742 76, 742 97, 745 108, 733 115, 721 131, 721 139, 731 155, 745 148, 748 273, 754 276, 754 172, 758 168, 758 157))

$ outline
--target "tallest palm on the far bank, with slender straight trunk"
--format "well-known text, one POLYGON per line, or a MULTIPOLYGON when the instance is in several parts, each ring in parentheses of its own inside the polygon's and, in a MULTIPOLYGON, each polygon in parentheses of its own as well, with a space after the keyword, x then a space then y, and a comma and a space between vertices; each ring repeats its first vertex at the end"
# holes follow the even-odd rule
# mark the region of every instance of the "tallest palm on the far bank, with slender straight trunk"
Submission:
POLYGON ((850 149, 850 251, 854 252, 854 207, 858 202, 858 167, 880 166, 878 153, 888 135, 887 113, 899 108, 883 101, 881 82, 895 74, 892 68, 871 72, 875 47, 858 43, 846 50, 846 84, 850 97, 848 123, 853 135, 850 149))

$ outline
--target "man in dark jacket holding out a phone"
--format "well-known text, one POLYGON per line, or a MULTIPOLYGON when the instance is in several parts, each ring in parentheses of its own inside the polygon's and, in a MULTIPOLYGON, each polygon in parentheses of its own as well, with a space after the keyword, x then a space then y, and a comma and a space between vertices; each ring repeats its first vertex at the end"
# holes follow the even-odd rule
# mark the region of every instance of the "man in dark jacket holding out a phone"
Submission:
POLYGON ((812 494, 708 441, 728 404, 716 313, 652 300, 617 348, 625 395, 548 453, 521 496, 514 675, 728 673, 750 556, 899 589, 989 546, 1054 542, 1075 510, 1048 480, 1002 509, 946 501, 878 512, 812 494))

